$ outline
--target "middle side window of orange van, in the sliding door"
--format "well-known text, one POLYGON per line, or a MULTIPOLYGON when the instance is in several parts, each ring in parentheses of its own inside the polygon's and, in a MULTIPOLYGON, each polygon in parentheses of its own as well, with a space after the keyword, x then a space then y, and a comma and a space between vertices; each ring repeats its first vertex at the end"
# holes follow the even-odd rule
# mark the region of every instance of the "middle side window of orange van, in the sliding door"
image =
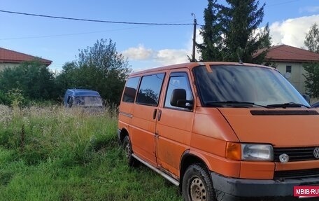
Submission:
POLYGON ((143 76, 136 102, 138 104, 157 106, 160 99, 164 76, 164 73, 143 76))

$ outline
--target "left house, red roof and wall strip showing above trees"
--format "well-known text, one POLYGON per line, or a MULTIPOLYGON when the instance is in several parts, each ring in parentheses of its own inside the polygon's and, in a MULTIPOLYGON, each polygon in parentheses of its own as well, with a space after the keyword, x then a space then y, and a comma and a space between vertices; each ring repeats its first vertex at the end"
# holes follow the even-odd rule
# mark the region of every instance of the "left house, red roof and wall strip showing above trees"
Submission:
POLYGON ((27 55, 24 53, 18 53, 13 50, 0 48, 0 71, 8 67, 17 67, 22 62, 29 62, 32 60, 39 60, 47 67, 52 63, 52 61, 50 60, 45 60, 39 57, 34 57, 32 55, 27 55))

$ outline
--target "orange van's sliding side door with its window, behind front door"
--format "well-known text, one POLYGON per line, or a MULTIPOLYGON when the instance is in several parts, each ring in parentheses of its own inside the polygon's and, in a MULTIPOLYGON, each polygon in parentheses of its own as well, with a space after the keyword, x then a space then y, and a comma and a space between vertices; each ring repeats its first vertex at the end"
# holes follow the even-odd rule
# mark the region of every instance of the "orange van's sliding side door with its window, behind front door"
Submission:
POLYGON ((155 125, 164 76, 164 73, 160 73, 141 78, 132 117, 134 153, 153 166, 156 166, 155 125))

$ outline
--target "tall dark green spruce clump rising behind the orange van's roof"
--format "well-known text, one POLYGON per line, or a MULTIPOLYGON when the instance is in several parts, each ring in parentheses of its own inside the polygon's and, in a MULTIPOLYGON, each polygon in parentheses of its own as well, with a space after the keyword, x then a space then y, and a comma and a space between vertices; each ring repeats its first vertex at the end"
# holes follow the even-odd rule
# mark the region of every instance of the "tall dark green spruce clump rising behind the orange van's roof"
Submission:
POLYGON ((260 3, 255 0, 226 0, 228 6, 216 2, 208 0, 204 11, 204 43, 198 46, 201 59, 262 63, 271 46, 269 25, 258 28, 265 4, 258 8, 260 3), (258 50, 262 51, 255 57, 258 50))

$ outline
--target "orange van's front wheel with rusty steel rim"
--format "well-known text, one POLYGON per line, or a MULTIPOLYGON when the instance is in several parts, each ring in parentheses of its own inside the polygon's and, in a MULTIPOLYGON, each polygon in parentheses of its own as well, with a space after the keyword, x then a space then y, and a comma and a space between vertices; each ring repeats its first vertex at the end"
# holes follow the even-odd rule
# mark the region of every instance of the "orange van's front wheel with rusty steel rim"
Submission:
POLYGON ((186 169, 183 176, 182 194, 185 201, 216 200, 213 183, 205 167, 193 164, 186 169))

